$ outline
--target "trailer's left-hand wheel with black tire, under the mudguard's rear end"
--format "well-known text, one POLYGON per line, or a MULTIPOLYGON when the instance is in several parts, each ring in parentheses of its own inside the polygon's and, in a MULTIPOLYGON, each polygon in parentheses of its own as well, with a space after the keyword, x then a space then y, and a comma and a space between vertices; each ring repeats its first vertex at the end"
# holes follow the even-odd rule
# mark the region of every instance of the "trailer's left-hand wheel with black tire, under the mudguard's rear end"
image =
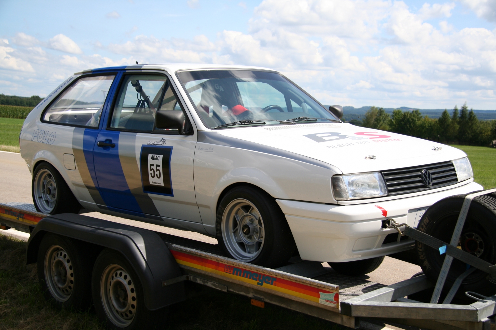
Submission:
POLYGON ((91 306, 91 261, 71 239, 47 233, 38 249, 38 279, 55 308, 87 310, 91 306))

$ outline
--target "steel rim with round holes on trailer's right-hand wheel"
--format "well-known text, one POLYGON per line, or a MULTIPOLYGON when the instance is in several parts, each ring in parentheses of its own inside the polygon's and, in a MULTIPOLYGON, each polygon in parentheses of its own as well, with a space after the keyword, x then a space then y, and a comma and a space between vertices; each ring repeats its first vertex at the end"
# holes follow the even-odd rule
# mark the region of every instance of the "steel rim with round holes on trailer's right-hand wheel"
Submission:
POLYGON ((100 282, 100 297, 105 314, 114 325, 125 328, 131 324, 136 315, 136 289, 121 266, 107 266, 100 282))

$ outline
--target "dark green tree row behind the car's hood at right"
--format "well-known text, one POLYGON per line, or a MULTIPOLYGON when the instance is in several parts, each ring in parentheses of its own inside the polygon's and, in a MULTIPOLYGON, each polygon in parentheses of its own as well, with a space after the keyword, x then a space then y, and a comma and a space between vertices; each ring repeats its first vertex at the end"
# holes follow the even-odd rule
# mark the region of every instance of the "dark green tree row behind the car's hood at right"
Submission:
POLYGON ((496 120, 479 120, 466 103, 461 109, 455 106, 451 114, 444 110, 439 118, 422 116, 419 110, 396 109, 389 114, 383 108, 372 107, 362 122, 350 122, 447 144, 488 146, 496 139, 496 120))

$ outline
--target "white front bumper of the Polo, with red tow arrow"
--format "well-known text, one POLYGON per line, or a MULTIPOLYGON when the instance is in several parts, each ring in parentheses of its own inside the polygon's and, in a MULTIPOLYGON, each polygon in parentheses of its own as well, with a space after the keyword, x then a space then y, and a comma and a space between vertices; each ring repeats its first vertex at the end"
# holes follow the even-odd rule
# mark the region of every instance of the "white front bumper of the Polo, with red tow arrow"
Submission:
POLYGON ((432 194, 357 205, 328 205, 278 199, 303 260, 345 262, 380 257, 413 247, 412 239, 383 244, 396 229, 381 228, 394 219, 416 227, 424 212, 448 196, 482 190, 475 182, 432 194))

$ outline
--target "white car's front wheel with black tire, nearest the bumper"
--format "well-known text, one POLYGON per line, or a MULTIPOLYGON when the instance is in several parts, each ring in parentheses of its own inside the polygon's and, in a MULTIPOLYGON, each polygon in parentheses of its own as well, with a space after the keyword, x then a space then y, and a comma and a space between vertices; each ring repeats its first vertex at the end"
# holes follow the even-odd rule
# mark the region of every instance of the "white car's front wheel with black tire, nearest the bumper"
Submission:
POLYGON ((280 267, 296 249, 274 198, 254 187, 239 186, 224 195, 217 209, 216 231, 225 253, 255 265, 280 267))

